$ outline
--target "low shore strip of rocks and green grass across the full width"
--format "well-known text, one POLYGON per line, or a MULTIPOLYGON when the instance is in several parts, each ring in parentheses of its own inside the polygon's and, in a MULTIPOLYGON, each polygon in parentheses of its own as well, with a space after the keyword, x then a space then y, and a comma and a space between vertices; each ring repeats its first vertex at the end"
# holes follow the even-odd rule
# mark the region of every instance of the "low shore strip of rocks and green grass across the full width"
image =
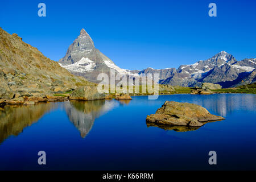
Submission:
MULTIPOLYGON (((142 90, 142 86, 139 86, 140 92, 142 90)), ((133 89, 134 86, 133 86, 133 89)), ((79 91, 80 91, 79 90, 79 91)), ((14 95, 14 98, 9 100, 0 99, 0 106, 3 107, 5 105, 35 105, 39 102, 59 102, 59 101, 68 101, 68 100, 80 100, 80 101, 88 101, 88 100, 131 100, 130 96, 149 96, 153 95, 148 92, 146 93, 127 93, 127 94, 118 94, 118 93, 110 93, 110 94, 98 94, 96 87, 90 86, 80 86, 79 88, 62 93, 53 93, 46 94, 45 96, 42 94, 41 96, 20 96, 18 94, 14 95), (77 90, 84 89, 84 92, 79 93, 79 96, 76 96, 74 93, 78 92, 77 90), (91 89, 90 93, 86 92, 86 88, 91 89), (81 94, 87 94, 86 96, 81 96, 81 94), (95 96, 97 95, 97 96, 95 96), (121 98, 121 99, 120 99, 121 98), (122 99, 123 98, 123 99, 122 99)), ((147 89, 146 89, 147 91, 147 89)), ((202 88, 189 88, 182 86, 171 86, 171 85, 159 85, 159 95, 172 95, 172 94, 220 94, 220 93, 256 93, 256 83, 238 86, 236 88, 225 88, 225 89, 202 89, 202 88), (201 92, 201 93, 200 93, 201 92)))

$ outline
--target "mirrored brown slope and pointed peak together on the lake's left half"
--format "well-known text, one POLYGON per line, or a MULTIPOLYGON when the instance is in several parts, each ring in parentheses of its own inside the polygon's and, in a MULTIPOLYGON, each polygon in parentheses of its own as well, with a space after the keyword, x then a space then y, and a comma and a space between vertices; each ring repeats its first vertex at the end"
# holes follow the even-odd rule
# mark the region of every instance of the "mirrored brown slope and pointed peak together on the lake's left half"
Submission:
POLYGON ((11 135, 18 136, 24 128, 38 122, 44 114, 56 109, 59 105, 64 107, 69 121, 76 126, 81 137, 85 138, 92 129, 94 120, 118 106, 118 102, 105 100, 68 101, 0 107, 0 144, 11 135))

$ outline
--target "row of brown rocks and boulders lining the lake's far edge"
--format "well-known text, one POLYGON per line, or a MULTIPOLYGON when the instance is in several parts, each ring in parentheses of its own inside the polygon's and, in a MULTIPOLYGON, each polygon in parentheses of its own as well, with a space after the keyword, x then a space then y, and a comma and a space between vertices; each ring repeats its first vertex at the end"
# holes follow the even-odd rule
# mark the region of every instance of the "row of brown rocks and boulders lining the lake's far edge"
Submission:
MULTIPOLYGON (((235 90, 235 89, 234 89, 235 90)), ((212 92, 209 89, 193 88, 188 92, 162 92, 159 95, 172 95, 172 94, 220 94, 220 93, 232 93, 232 92, 212 92)), ((99 94, 96 86, 80 86, 73 90, 71 93, 53 93, 53 94, 38 94, 36 93, 25 93, 12 94, 11 98, 0 98, 0 107, 5 105, 35 105, 39 102, 61 102, 68 100, 77 101, 90 101, 90 100, 132 100, 131 96, 149 96, 151 94, 99 94)))

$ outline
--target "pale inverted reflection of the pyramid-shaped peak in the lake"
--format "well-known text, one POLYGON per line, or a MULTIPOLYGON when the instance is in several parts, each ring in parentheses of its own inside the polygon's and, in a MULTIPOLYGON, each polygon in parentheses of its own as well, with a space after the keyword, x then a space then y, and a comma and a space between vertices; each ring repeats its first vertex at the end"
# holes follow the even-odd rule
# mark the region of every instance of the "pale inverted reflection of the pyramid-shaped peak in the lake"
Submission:
POLYGON ((92 129, 94 119, 111 110, 117 102, 96 100, 96 101, 70 101, 65 102, 65 110, 69 120, 80 131, 81 137, 85 136, 92 129))

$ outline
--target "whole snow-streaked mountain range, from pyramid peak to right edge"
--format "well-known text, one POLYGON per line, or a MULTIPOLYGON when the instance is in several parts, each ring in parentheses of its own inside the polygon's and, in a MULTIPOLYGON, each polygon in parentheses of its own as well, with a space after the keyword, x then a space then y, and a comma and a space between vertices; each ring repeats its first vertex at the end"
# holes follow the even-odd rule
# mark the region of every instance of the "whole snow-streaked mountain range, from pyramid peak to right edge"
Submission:
POLYGON ((100 73, 110 75, 110 68, 116 73, 129 77, 159 73, 160 84, 179 86, 200 86, 203 82, 212 82, 228 88, 256 81, 256 59, 237 61, 225 51, 192 65, 180 65, 178 69, 146 68, 142 71, 121 69, 94 47, 93 40, 84 29, 69 46, 66 55, 59 60, 59 64, 74 75, 83 76, 92 82, 98 82, 97 76, 100 73))

